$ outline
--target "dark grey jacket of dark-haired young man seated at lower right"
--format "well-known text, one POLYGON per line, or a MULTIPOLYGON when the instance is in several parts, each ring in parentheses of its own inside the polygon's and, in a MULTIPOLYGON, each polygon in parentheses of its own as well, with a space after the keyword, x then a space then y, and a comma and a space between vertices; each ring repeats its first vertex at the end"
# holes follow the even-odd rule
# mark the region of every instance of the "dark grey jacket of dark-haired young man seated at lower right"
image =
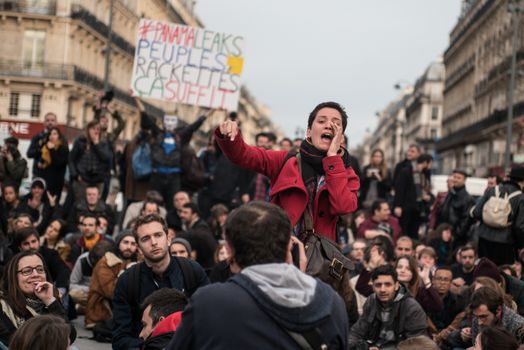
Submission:
POLYGON ((387 309, 377 300, 375 294, 368 298, 362 316, 351 328, 349 349, 358 349, 366 342, 380 348, 396 345, 404 339, 426 335, 426 327, 424 310, 407 293, 404 286, 400 285, 395 299, 387 309))

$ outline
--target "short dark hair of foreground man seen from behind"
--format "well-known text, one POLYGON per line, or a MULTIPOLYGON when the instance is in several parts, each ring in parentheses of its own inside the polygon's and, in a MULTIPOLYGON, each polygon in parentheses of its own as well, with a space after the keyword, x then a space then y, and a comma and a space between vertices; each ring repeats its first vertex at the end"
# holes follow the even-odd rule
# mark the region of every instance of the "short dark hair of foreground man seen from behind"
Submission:
POLYGON ((242 268, 286 260, 291 222, 280 207, 254 201, 235 209, 226 221, 226 241, 242 268))

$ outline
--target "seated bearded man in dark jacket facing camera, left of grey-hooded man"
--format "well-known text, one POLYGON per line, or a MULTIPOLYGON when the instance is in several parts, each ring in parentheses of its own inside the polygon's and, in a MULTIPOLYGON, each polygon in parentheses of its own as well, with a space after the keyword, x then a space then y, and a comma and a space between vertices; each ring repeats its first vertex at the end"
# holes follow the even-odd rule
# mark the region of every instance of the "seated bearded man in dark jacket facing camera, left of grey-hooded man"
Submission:
POLYGON ((200 265, 183 258, 171 257, 167 238, 167 225, 158 214, 138 218, 133 230, 144 262, 127 269, 116 283, 113 298, 113 349, 138 349, 143 340, 142 329, 144 299, 161 288, 175 288, 190 296, 209 280, 200 265))

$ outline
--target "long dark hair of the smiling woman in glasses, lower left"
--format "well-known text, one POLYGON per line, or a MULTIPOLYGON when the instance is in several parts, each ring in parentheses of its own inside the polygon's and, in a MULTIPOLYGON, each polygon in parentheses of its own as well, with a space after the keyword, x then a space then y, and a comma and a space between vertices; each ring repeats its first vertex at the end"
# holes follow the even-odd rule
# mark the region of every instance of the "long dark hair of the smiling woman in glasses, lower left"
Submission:
MULTIPOLYGON (((2 298, 9 304, 9 306, 11 306, 13 311, 18 316, 24 318, 32 317, 33 314, 29 312, 29 310, 26 308, 26 296, 24 295, 22 289, 20 289, 20 286, 18 285, 18 263, 22 258, 28 256, 37 256, 38 258, 40 258, 40 260, 42 261, 42 265, 44 266, 44 269, 46 271, 46 281, 51 283, 53 282, 45 264, 45 260, 39 253, 32 251, 20 252, 13 256, 11 260, 9 260, 9 263, 5 267, 2 281, 0 282, 0 290, 3 293, 2 298)), ((56 293, 56 290, 55 297, 58 299, 58 293, 56 293)))

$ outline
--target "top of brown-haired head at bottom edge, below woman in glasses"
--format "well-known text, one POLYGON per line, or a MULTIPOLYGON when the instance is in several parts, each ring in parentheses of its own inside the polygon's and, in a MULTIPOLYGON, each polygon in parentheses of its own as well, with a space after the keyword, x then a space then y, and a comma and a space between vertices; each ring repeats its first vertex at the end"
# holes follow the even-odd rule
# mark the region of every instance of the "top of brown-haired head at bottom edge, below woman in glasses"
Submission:
POLYGON ((9 349, 67 350, 70 336, 71 326, 63 318, 55 315, 36 316, 17 329, 9 349))

